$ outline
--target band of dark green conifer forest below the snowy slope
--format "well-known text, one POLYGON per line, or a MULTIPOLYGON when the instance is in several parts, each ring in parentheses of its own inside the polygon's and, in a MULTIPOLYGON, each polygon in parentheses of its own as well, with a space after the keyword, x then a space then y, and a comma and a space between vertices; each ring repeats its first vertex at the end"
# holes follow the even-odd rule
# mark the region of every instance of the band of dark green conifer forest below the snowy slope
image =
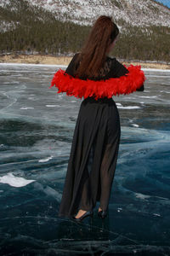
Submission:
MULTIPOLYGON (((1 54, 26 51, 71 55, 81 49, 91 28, 59 21, 51 12, 22 0, 0 7, 0 20, 13 22, 13 29, 1 29, 1 54)), ((112 55, 126 60, 170 61, 169 27, 130 26, 124 20, 116 23, 126 30, 120 33, 112 55)))

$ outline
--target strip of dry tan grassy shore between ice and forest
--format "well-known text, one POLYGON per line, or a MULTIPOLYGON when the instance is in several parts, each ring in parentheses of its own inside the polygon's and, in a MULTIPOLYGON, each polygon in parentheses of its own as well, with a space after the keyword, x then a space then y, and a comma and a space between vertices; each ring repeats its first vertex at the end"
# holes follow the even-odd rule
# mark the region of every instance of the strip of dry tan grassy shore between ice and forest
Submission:
MULTIPOLYGON (((72 56, 53 56, 53 55, 2 55, 0 56, 0 64, 42 64, 54 66, 68 66, 72 56)), ((118 58, 117 58, 118 60, 118 58)), ((122 64, 129 66, 140 65, 142 68, 155 68, 169 70, 170 64, 161 64, 156 62, 143 61, 120 61, 122 64)))

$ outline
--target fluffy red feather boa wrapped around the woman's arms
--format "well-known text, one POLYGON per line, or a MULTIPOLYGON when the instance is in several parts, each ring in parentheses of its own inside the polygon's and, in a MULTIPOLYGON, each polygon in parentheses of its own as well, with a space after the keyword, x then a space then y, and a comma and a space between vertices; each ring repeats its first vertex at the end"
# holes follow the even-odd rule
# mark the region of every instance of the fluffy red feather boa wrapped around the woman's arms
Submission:
MULTIPOLYGON (((124 65, 124 67, 126 66, 124 65)), ((131 64, 126 68, 129 73, 120 78, 99 81, 73 78, 59 68, 59 71, 54 74, 49 88, 55 85, 59 89, 57 93, 66 92, 67 96, 75 96, 81 99, 82 96, 84 99, 88 96, 94 96, 97 100, 105 96, 111 98, 113 95, 129 94, 144 84, 145 77, 140 66, 133 66, 131 64)))

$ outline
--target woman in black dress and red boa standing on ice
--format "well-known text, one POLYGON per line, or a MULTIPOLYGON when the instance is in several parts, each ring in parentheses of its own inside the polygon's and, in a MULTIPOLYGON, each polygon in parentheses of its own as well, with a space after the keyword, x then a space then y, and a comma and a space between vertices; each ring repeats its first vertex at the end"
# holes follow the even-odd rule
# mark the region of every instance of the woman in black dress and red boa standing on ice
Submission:
POLYGON ((59 216, 77 221, 92 217, 97 201, 99 217, 107 215, 121 137, 119 113, 112 96, 144 90, 140 66, 125 67, 108 56, 118 33, 111 17, 100 16, 81 53, 74 55, 65 71, 59 69, 54 74, 51 84, 58 87, 58 93, 84 97, 59 207, 59 216))

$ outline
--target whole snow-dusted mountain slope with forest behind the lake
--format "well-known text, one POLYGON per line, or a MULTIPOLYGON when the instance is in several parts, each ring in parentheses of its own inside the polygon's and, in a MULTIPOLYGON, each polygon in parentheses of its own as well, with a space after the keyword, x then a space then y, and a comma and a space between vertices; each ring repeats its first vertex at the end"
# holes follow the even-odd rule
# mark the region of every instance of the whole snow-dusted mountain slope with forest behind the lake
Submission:
POLYGON ((0 51, 72 55, 99 15, 120 28, 115 56, 170 61, 170 9, 154 0, 1 0, 0 51))

